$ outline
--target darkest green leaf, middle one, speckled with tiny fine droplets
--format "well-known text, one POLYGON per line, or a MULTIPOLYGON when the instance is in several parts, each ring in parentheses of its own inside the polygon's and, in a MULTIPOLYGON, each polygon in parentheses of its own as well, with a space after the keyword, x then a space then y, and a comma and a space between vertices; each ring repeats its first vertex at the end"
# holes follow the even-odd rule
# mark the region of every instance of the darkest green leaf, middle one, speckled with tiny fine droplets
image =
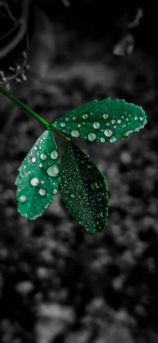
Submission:
POLYGON ((104 230, 109 206, 105 177, 71 141, 64 152, 60 189, 67 209, 88 233, 104 230))

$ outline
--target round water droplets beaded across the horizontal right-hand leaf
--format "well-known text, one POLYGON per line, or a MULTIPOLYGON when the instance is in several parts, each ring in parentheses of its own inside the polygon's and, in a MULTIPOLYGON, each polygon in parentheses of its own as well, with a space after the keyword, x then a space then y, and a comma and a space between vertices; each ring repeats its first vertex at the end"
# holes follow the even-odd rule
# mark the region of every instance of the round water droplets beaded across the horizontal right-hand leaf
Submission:
MULTIPOLYGON (((93 115, 93 112, 91 112, 90 115, 93 115)), ((126 115, 126 112, 125 112, 125 115, 126 115)), ((85 114, 83 114, 82 117, 83 117, 84 120, 86 120, 86 119, 88 119, 89 116, 88 116, 87 113, 85 113, 85 114)), ((129 117, 131 117, 130 114, 129 114, 129 117)), ((103 114, 103 118, 107 120, 107 119, 109 118, 109 114, 108 114, 108 113, 103 114)), ((114 116, 113 116, 113 118, 114 118, 114 116)), ((121 116, 121 118, 124 119, 125 116, 121 116)), ((66 121, 69 121, 69 119, 70 119, 69 117, 65 118, 66 121)), ((129 118, 128 118, 128 117, 126 117, 125 119, 126 119, 126 121, 129 121, 129 118)), ((135 121, 137 121, 137 120, 138 120, 138 117, 135 116, 134 119, 135 119, 135 121)), ((139 119, 140 119, 140 121, 143 121, 143 117, 139 117, 139 119)), ((77 117, 76 117, 76 116, 73 116, 73 120, 76 121, 76 120, 77 120, 77 117)), ((117 123, 116 123, 116 120, 115 120, 115 119, 112 119, 112 120, 111 120, 111 123, 114 125, 114 126, 113 126, 114 129, 117 128, 117 125, 116 125, 116 124, 119 124, 119 125, 120 125, 121 122, 122 122, 121 119, 118 119, 118 120, 117 120, 117 123)), ((54 123, 57 124, 57 121, 55 121, 54 123)), ((86 122, 84 121, 82 124, 85 125, 86 122)), ((82 124, 78 124, 78 128, 81 128, 82 124)), ((61 125, 61 127, 65 127, 65 126, 66 126, 65 122, 61 122, 60 125, 61 125)), ((106 125, 109 126, 110 123, 107 122, 106 125)), ((99 129, 99 128, 100 128, 100 123, 99 123, 98 121, 95 121, 95 122, 93 123, 93 127, 94 127, 94 129, 99 129)), ((124 128, 124 127, 126 127, 126 124, 123 124, 123 125, 122 125, 122 128, 124 128)), ((102 129, 101 131, 104 132, 104 134, 105 134, 106 137, 111 137, 111 138, 109 139, 109 142, 110 142, 110 143, 114 143, 114 142, 117 141, 117 139, 113 136, 114 132, 113 132, 111 129, 106 129, 106 130, 103 130, 103 129, 102 129), (113 137, 112 137, 112 136, 113 136, 113 137)), ((71 135, 72 135, 72 137, 80 137, 80 133, 79 133, 77 130, 72 130, 72 131, 71 131, 71 135)), ((89 141, 94 142, 94 141, 96 140, 96 137, 97 137, 97 135, 96 135, 94 132, 88 133, 88 140, 89 140, 89 141)), ((85 139, 87 139, 86 136, 85 136, 85 139)), ((105 143, 105 138, 104 138, 104 137, 100 137, 100 142, 101 142, 101 143, 105 143)))

